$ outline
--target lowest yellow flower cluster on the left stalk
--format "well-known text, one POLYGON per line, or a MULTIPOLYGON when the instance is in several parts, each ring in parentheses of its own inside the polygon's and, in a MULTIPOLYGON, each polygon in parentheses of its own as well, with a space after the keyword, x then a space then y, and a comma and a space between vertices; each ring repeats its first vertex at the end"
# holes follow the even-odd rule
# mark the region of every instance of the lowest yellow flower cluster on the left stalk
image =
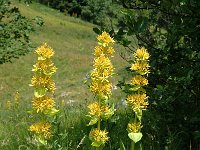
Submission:
POLYGON ((39 122, 30 126, 29 130, 35 132, 39 138, 49 139, 51 134, 51 125, 48 122, 39 122))

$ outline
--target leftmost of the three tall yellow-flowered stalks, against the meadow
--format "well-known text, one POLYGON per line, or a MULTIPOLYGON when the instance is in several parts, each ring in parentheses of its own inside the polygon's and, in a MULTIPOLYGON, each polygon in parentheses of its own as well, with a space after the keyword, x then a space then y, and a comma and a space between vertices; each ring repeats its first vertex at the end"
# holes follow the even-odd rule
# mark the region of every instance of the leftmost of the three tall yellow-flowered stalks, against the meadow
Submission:
POLYGON ((34 87, 32 100, 32 112, 40 119, 39 122, 30 126, 29 130, 34 133, 37 144, 47 145, 47 140, 52 137, 52 127, 49 119, 58 110, 55 109, 55 101, 52 98, 56 87, 52 75, 56 67, 51 61, 54 51, 46 43, 35 50, 38 59, 33 65, 34 76, 31 85, 34 87))

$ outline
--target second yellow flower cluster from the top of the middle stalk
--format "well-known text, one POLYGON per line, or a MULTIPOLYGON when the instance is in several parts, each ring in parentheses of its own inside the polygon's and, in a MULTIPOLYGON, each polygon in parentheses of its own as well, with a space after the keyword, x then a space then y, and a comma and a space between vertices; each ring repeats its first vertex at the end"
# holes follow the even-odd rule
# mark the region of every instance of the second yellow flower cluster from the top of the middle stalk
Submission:
POLYGON ((94 55, 96 57, 101 56, 102 54, 107 55, 107 56, 113 56, 113 53, 115 52, 115 50, 113 49, 113 47, 104 47, 101 45, 98 45, 94 48, 94 55))

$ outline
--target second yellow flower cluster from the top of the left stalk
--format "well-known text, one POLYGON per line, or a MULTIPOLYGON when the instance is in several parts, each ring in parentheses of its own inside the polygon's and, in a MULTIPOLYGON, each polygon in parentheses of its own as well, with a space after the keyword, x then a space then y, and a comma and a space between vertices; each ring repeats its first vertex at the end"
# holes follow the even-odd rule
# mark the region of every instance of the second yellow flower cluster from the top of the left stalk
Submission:
POLYGON ((52 61, 46 59, 46 60, 38 60, 38 62, 35 65, 33 65, 32 71, 35 72, 39 71, 44 73, 45 75, 51 75, 56 72, 56 69, 57 68, 54 66, 52 61))

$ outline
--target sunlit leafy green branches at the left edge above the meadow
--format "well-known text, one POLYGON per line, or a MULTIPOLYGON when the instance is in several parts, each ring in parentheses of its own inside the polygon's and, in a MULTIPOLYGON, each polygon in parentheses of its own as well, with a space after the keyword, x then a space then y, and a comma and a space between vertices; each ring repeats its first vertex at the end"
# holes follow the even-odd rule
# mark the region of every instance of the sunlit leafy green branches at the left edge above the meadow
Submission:
POLYGON ((7 0, 0 1, 0 64, 30 51, 29 32, 32 30, 30 21, 17 7, 11 7, 7 0))

